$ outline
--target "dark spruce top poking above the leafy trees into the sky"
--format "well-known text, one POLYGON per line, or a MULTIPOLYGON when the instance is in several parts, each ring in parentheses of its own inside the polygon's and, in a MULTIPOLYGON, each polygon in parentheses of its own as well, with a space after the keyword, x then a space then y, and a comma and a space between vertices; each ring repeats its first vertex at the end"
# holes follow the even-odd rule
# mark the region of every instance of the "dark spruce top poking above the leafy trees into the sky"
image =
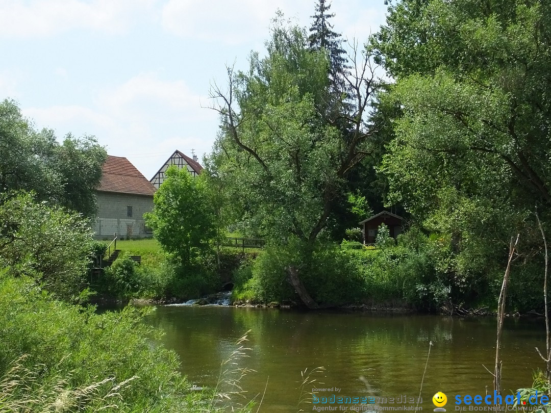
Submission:
POLYGON ((341 47, 341 34, 333 31, 333 25, 329 19, 335 16, 334 13, 328 13, 331 4, 326 4, 325 0, 318 0, 316 4, 316 14, 311 16, 314 21, 310 27, 310 36, 308 36, 309 47, 312 50, 325 50, 329 58, 329 80, 334 92, 342 93, 346 88, 344 73, 347 69, 347 58, 345 51, 341 47))

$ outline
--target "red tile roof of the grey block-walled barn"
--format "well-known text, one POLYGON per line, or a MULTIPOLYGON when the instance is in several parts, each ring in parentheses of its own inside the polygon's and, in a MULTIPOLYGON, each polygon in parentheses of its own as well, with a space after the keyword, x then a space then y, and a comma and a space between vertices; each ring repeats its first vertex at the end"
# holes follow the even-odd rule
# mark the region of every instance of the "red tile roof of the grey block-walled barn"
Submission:
POLYGON ((155 187, 126 157, 107 155, 101 172, 98 191, 152 196, 156 191, 155 187))

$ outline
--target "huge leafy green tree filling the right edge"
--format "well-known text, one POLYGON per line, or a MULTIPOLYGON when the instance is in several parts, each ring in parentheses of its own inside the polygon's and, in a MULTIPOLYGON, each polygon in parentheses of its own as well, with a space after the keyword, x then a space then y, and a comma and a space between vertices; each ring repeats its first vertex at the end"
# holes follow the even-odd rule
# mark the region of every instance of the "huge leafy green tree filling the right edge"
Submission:
POLYGON ((540 248, 534 205, 550 218, 551 8, 403 0, 389 10, 376 36, 397 80, 382 99, 402 112, 380 167, 389 199, 443 234, 458 284, 487 284, 511 231, 525 256, 540 248))

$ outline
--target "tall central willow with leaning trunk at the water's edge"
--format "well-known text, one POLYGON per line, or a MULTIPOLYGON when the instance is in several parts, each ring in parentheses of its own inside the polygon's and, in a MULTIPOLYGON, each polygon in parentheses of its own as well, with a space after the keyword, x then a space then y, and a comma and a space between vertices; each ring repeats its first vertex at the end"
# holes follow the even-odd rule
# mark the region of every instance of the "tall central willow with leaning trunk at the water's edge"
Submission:
POLYGON ((221 124, 211 175, 225 182, 249 233, 296 241, 301 253, 285 266, 288 281, 307 306, 317 307, 300 268, 323 236, 347 172, 372 150, 366 118, 374 68, 367 53, 352 54, 351 64, 361 59, 345 78, 354 105, 340 102, 338 116, 327 119, 326 53, 310 50, 304 29, 278 21, 266 46, 266 57, 252 53, 247 72, 228 69, 227 90, 212 90, 221 124))

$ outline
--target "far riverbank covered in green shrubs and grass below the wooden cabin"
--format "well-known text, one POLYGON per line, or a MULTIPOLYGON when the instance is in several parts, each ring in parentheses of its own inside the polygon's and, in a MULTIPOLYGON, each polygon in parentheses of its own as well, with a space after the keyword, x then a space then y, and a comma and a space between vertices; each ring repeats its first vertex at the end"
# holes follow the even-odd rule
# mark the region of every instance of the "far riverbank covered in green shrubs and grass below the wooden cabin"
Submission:
MULTIPOLYGON (((493 314, 501 275, 491 274, 495 280, 483 292, 477 292, 474 285, 459 288, 439 269, 443 258, 430 253, 430 242, 425 239, 412 247, 407 240, 379 249, 318 248, 311 261, 302 265, 300 278, 320 308, 493 314)), ((191 276, 177 273, 155 240, 122 241, 117 248, 122 249, 123 257, 142 256, 141 266, 118 276, 122 281, 113 276, 107 280, 107 284, 118 282, 119 286, 107 291, 101 291, 101 286, 98 289, 121 301, 139 298, 160 304, 185 302, 230 285, 230 301, 235 306, 302 307, 296 291, 286 281, 284 260, 289 258, 285 258, 288 252, 282 247, 268 246, 254 253, 224 248, 220 257, 206 259, 198 267, 199 273, 191 276), (199 284, 194 286, 195 282, 199 284)), ((507 297, 510 314, 542 313, 542 303, 520 297, 516 285, 507 297)))

